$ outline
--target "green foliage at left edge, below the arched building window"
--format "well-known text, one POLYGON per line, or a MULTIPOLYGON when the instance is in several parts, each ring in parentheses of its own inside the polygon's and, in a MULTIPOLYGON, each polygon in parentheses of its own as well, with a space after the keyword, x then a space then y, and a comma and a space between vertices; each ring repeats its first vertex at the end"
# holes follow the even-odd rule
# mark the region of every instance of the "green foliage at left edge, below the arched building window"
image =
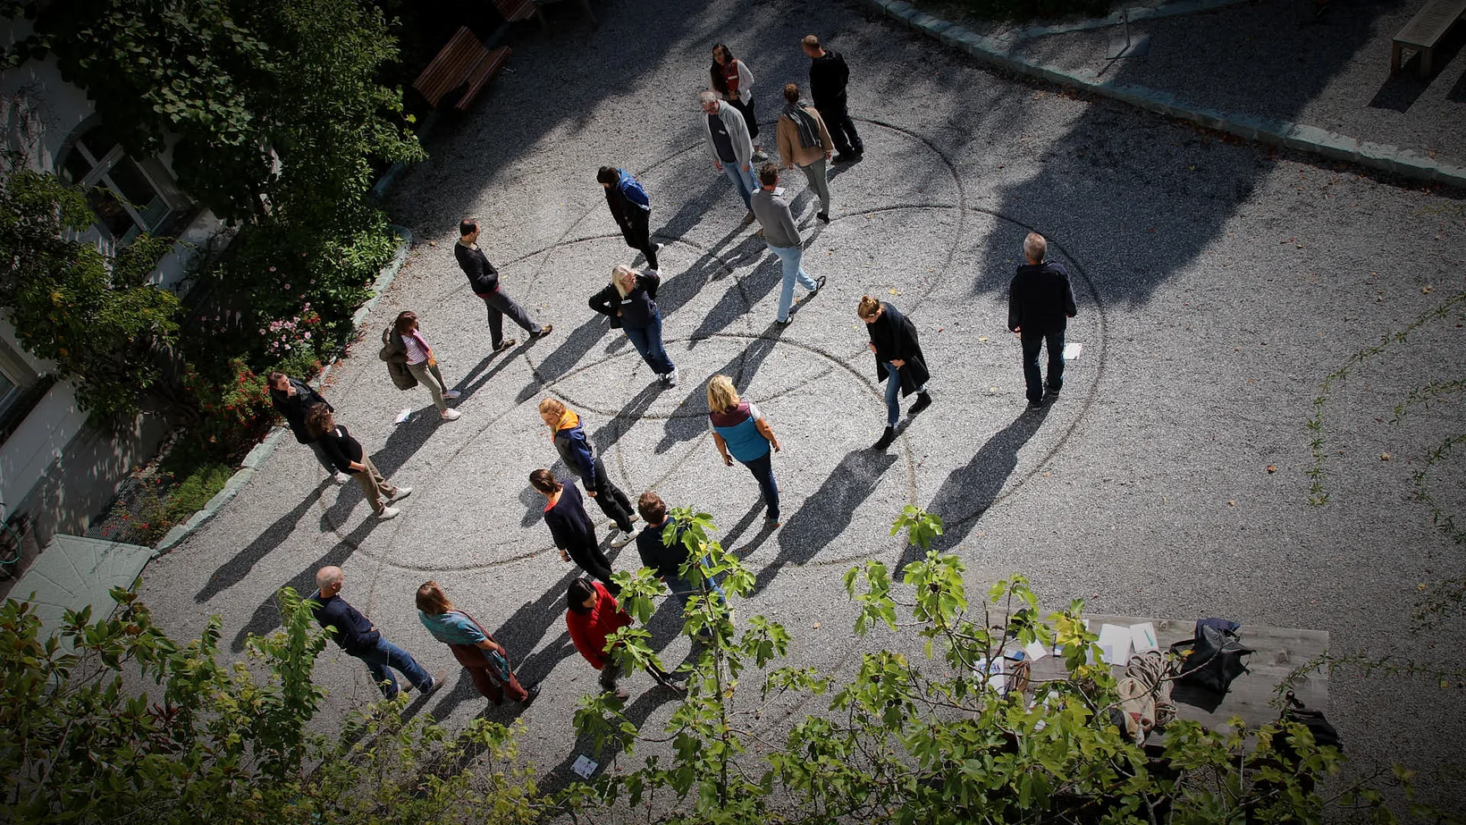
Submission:
POLYGON ((75 240, 95 220, 85 192, 16 154, 0 163, 0 305, 21 346, 79 380, 94 421, 135 413, 163 380, 157 349, 177 334, 177 297, 148 283, 169 243, 142 236, 108 259, 75 240))

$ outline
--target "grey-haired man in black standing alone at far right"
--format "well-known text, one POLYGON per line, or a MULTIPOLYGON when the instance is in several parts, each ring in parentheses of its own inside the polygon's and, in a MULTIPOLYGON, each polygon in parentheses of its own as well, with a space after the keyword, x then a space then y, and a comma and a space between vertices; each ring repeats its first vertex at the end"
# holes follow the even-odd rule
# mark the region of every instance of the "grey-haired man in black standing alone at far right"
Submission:
POLYGON ((1023 381, 1028 384, 1028 407, 1036 409, 1045 400, 1058 397, 1064 387, 1064 328, 1069 318, 1079 314, 1075 289, 1063 264, 1044 261, 1048 242, 1036 232, 1023 239, 1028 264, 1017 268, 1009 287, 1009 330, 1023 343, 1023 381), (1048 344, 1048 394, 1038 369, 1038 353, 1048 344))

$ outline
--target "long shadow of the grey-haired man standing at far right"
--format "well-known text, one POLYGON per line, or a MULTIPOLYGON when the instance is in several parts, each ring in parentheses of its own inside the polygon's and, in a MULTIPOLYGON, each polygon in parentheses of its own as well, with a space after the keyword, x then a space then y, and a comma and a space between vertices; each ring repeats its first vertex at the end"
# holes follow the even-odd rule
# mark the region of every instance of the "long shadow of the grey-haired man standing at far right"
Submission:
MULTIPOLYGON (((954 550, 972 532, 1003 492, 1003 485, 1017 467, 1019 450, 1042 426, 1048 409, 1047 404, 1036 410, 1025 409, 1012 423, 994 432, 970 462, 951 470, 947 481, 941 482, 937 495, 927 506, 928 513, 935 513, 943 520, 943 535, 932 542, 932 550, 938 552, 954 550)), ((893 574, 899 576, 907 564, 924 557, 925 551, 919 547, 906 545, 893 574)))

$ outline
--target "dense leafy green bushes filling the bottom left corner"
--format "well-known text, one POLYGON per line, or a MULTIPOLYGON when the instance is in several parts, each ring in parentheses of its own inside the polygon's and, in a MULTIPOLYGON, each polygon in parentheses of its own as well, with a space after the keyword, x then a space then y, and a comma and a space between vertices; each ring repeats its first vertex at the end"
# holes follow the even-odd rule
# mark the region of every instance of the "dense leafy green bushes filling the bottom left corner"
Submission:
POLYGON ((541 806, 510 728, 405 721, 406 696, 323 718, 325 632, 289 588, 284 629, 235 665, 218 617, 177 643, 135 593, 113 598, 116 615, 67 613, 51 639, 28 604, 0 607, 6 822, 517 825, 541 806))

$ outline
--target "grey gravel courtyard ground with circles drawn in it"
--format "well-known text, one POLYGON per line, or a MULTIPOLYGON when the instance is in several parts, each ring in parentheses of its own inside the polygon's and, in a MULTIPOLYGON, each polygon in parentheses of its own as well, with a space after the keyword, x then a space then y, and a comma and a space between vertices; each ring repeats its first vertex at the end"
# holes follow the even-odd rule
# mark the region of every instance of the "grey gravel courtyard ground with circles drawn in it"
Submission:
MULTIPOLYGON (((850 673, 840 583, 866 558, 903 558, 888 525, 906 504, 947 520, 943 547, 979 586, 1026 573, 1050 605, 1322 629, 1336 654, 1400 654, 1445 665, 1460 621, 1409 633, 1422 583, 1459 573, 1460 550, 1410 501, 1429 445, 1460 432, 1457 406, 1388 423, 1412 387, 1460 377, 1459 317, 1356 371, 1327 407, 1327 507, 1308 504, 1318 382, 1350 353, 1463 289, 1466 204, 1423 189, 1220 139, 1111 103, 994 75, 954 51, 841 3, 608 0, 603 26, 573 16, 520 29, 503 75, 468 116, 428 141, 432 160, 399 186, 393 220, 418 245, 325 394, 377 466, 415 492, 378 523, 355 485, 321 485, 287 443, 213 522, 142 579, 176 633, 210 614, 242 649, 279 626, 274 592, 309 592, 321 564, 346 570, 343 595, 430 670, 456 684, 427 712, 460 725, 485 711, 412 608, 437 579, 542 680, 520 714, 525 756, 564 777, 572 714, 594 671, 564 635, 575 574, 551 548, 528 489, 556 459, 535 403, 563 399, 629 494, 655 488, 711 511, 758 574, 740 615, 765 614, 796 637, 792 664, 850 673), (834 220, 796 176, 806 268, 830 286, 787 328, 774 324, 777 261, 740 226, 743 207, 702 147, 695 95, 714 42, 756 76, 773 138, 777 89, 805 84, 799 37, 818 32, 852 64, 850 110, 865 161, 834 177, 834 220), (652 196, 663 252, 660 299, 683 382, 660 390, 619 331, 586 308, 614 264, 632 262, 595 170, 633 170, 652 196), (491 356, 482 305, 452 254, 456 223, 478 215, 506 290, 553 336, 491 356), (1061 400, 1025 413, 1007 283, 1029 229, 1070 267, 1085 344, 1061 400), (855 317, 863 293, 918 325, 935 404, 887 454, 880 385, 855 317), (413 309, 463 391, 440 422, 427 393, 399 393, 375 358, 380 328, 413 309), (764 530, 756 487, 724 469, 708 437, 704 382, 733 375, 784 443, 776 472, 786 520, 764 530), (418 412, 402 425, 402 407, 418 412), (1390 460, 1381 460, 1381 454, 1390 460), (1268 467, 1275 467, 1270 472, 1268 467)), ((1227 84, 1229 78, 1217 78, 1227 84)), ((1459 491, 1459 465, 1440 469, 1459 491)), ((1459 503, 1460 495, 1447 494, 1459 503)), ((635 566, 635 551, 617 558, 635 566)), ((664 611, 654 621, 671 637, 664 611)), ((680 661, 686 640, 666 656, 680 661)), ((340 705, 374 695, 365 668, 334 648, 317 677, 340 705)), ((749 680, 752 684, 756 680, 749 680)), ((1454 686, 1363 678, 1330 683, 1328 714, 1363 762, 1429 771, 1457 752, 1466 714, 1454 686)), ((673 698, 629 680, 632 715, 658 724, 673 698)), ((786 706, 784 711, 795 711, 786 706)), ((809 703, 803 711, 818 709, 809 703)), ((777 731, 781 714, 765 724, 777 731)), ((1428 784, 1435 784, 1428 781, 1428 784)), ((1451 788, 1453 785, 1445 785, 1451 788)), ((1460 794, 1444 790, 1445 797, 1460 794)))

